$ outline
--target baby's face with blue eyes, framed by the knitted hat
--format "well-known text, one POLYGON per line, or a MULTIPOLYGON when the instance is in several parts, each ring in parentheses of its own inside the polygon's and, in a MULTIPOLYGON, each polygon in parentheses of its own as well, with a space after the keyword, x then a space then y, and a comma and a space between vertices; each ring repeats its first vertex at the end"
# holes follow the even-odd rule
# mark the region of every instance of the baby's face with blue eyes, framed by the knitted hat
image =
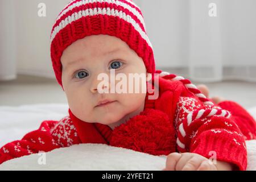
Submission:
MULTIPOLYGON (((110 93, 110 69, 115 70, 115 75, 124 73, 127 82, 129 73, 146 75, 142 58, 121 39, 92 35, 77 40, 63 52, 61 64, 69 108, 82 121, 110 125, 130 113, 143 110, 146 93, 110 93), (109 93, 98 92, 98 84, 102 82, 98 75, 101 73, 109 76, 109 93), (103 100, 113 102, 98 106, 98 102, 103 100)), ((146 82, 141 81, 140 87, 143 84, 146 82)))

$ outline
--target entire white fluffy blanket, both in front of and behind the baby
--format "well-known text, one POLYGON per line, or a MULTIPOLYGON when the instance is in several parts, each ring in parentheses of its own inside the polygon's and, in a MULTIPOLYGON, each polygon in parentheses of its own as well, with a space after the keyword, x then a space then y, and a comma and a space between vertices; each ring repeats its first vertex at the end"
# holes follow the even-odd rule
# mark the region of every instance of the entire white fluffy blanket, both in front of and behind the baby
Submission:
MULTIPOLYGON (((256 107, 249 112, 256 118, 256 107)), ((68 105, 0 106, 0 146, 38 129, 47 119, 59 120, 68 114, 68 105)), ((256 140, 246 141, 247 170, 256 170, 256 140)), ((166 156, 153 156, 105 144, 80 144, 45 154, 9 160, 1 170, 162 170, 166 156)))

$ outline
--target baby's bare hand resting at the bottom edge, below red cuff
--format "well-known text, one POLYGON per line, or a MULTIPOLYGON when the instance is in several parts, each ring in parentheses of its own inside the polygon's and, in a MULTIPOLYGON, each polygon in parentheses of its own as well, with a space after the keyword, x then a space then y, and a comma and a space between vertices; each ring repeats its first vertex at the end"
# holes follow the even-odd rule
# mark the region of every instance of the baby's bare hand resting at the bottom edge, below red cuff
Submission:
POLYGON ((232 170, 232 164, 218 161, 213 164, 209 159, 199 154, 185 152, 185 153, 171 153, 166 159, 166 168, 164 171, 217 171, 217 170, 232 170))

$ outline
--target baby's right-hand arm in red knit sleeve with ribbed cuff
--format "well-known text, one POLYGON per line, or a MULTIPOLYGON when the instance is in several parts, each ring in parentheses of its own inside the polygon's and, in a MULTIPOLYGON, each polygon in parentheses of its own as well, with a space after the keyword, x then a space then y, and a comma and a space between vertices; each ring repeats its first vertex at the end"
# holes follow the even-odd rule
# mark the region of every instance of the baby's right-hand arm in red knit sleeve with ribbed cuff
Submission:
POLYGON ((245 170, 245 140, 232 119, 217 115, 201 115, 190 124, 185 119, 191 111, 207 110, 210 107, 212 106, 204 106, 197 98, 180 97, 175 119, 178 150, 199 154, 207 159, 213 157, 217 162, 230 163, 240 170, 245 170))

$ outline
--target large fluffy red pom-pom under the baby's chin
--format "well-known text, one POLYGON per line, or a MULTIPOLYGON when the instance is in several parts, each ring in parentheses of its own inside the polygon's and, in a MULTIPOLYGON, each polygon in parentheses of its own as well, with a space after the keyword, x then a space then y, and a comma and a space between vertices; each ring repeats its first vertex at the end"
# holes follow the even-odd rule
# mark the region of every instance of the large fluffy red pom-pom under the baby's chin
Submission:
POLYGON ((151 155, 168 155, 176 148, 174 125, 163 111, 145 109, 115 127, 110 145, 151 155))

